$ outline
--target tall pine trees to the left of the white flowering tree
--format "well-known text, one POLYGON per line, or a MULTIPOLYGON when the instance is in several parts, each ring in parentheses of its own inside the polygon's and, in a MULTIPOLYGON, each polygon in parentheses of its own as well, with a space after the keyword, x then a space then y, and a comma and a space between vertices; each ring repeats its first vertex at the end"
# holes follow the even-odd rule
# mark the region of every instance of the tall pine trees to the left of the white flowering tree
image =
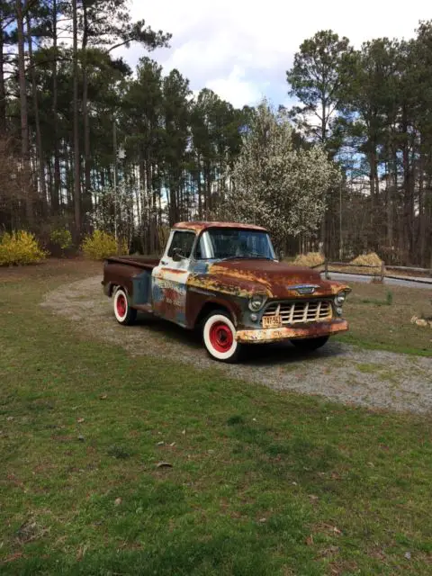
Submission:
POLYGON ((101 223, 155 251, 163 223, 210 217, 227 188, 247 108, 148 57, 170 35, 132 22, 126 0, 0 3, 0 225, 76 241, 101 223))

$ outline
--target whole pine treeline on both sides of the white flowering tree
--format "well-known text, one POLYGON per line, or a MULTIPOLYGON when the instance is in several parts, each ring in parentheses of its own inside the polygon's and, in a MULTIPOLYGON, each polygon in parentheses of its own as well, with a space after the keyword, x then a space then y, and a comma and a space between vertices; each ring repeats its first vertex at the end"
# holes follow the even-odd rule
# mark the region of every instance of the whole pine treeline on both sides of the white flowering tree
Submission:
MULTIPOLYGON (((0 1, 0 227, 76 243, 95 227, 157 252, 175 220, 217 217, 253 108, 193 96, 149 56, 171 36, 130 19, 127 0, 0 1), (132 70, 116 49, 147 52, 132 70)), ((293 146, 320 143, 342 168, 315 233, 290 251, 374 249, 432 258, 432 27, 354 49, 320 31, 287 72, 293 146)), ((226 202, 225 202, 226 204, 226 202)))

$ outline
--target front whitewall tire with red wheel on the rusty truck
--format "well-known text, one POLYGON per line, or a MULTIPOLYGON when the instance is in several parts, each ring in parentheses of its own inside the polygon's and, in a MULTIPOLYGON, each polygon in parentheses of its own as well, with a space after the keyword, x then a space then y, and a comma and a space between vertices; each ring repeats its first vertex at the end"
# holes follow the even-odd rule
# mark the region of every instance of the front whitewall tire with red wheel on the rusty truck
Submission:
POLYGON ((202 325, 202 340, 209 355, 220 362, 236 362, 240 345, 236 327, 224 311, 213 311, 202 325))

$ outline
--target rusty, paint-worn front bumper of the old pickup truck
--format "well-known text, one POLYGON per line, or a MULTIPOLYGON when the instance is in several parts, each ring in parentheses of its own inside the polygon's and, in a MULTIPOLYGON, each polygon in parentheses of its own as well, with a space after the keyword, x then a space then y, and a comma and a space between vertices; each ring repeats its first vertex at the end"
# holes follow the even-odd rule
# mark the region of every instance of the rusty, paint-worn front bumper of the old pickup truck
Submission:
POLYGON ((301 326, 297 328, 238 330, 236 340, 248 344, 265 344, 266 342, 293 340, 294 338, 319 338, 320 336, 331 336, 338 332, 346 332, 347 329, 347 320, 331 320, 329 322, 314 322, 310 326, 301 326))

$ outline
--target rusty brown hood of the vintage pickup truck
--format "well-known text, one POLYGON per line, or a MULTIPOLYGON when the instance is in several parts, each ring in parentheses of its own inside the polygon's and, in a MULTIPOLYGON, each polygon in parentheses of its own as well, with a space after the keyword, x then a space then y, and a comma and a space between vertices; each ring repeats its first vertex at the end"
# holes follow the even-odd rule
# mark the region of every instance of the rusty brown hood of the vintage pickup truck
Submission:
POLYGON ((217 284, 219 290, 226 286, 232 293, 237 286, 241 295, 262 292, 277 299, 311 298, 311 293, 296 290, 302 284, 315 286, 313 296, 331 296, 347 287, 323 280, 319 272, 308 267, 258 258, 221 260, 209 266, 206 276, 207 282, 217 284))

